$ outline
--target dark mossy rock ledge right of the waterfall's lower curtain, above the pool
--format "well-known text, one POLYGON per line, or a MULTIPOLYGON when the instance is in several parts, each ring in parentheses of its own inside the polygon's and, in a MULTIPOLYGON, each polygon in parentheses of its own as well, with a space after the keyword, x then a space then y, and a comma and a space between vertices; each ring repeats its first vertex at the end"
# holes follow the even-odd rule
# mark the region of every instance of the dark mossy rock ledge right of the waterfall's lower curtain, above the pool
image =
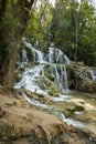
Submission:
POLYGON ((76 63, 66 66, 70 89, 87 93, 96 93, 96 82, 92 80, 88 66, 76 65, 76 63))

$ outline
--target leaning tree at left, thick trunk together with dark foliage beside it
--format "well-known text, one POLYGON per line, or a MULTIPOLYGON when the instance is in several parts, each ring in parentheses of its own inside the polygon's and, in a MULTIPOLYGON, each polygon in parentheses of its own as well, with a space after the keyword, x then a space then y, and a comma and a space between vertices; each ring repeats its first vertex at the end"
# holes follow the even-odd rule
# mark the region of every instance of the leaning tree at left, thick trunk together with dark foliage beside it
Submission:
POLYGON ((0 2, 0 70, 2 83, 11 88, 18 50, 28 25, 34 0, 1 0, 0 2))

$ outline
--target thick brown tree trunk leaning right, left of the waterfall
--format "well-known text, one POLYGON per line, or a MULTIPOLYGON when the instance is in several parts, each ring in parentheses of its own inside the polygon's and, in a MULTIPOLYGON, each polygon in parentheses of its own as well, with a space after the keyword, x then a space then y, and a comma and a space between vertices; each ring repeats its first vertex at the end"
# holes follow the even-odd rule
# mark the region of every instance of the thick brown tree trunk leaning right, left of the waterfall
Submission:
MULTIPOLYGON (((14 48, 11 48, 10 51, 6 51, 6 56, 3 60, 2 72, 3 72, 3 86, 10 89, 13 84, 14 70, 15 70, 15 61, 17 54, 19 50, 19 44, 22 39, 22 34, 28 25, 29 13, 32 8, 34 0, 19 0, 18 7, 20 8, 20 28, 14 33, 14 48)), ((15 14, 15 11, 14 11, 15 14)), ((11 41, 10 41, 11 43, 11 41)))

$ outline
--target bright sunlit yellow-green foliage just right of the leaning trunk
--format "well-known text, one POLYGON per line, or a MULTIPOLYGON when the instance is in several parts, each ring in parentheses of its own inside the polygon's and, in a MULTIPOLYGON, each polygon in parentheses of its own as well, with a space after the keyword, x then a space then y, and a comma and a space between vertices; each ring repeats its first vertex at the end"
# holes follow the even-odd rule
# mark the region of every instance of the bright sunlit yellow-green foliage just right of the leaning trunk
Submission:
POLYGON ((26 38, 35 48, 45 48, 50 35, 50 22, 52 6, 46 0, 39 0, 35 8, 30 14, 28 29, 25 31, 26 38))

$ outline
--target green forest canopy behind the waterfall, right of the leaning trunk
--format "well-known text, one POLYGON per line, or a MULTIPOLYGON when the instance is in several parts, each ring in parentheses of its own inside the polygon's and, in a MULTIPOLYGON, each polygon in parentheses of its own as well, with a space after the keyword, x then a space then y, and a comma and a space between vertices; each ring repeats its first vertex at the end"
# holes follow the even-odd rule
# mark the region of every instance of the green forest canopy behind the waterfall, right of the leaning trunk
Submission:
POLYGON ((29 21, 26 37, 42 49, 62 49, 71 60, 96 65, 96 7, 90 0, 41 0, 29 21))

